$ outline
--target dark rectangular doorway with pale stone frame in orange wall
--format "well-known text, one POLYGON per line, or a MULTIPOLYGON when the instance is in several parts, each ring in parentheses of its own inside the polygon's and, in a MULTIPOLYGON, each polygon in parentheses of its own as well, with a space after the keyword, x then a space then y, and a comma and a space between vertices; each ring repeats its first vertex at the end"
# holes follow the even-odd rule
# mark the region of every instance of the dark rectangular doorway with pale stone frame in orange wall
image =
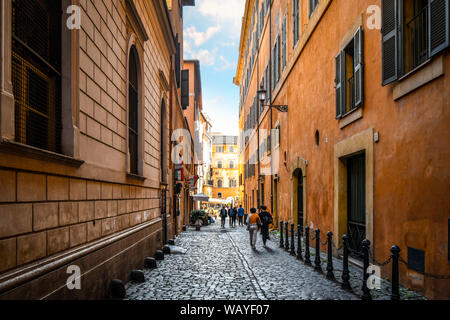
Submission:
POLYGON ((347 232, 349 246, 360 257, 366 238, 366 156, 347 159, 347 232))

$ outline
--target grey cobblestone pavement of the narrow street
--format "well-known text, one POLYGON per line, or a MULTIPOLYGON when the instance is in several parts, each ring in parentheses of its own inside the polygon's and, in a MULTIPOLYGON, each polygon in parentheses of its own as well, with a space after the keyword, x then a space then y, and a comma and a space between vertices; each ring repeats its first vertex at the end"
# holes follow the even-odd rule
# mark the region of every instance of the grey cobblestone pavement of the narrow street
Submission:
MULTIPOLYGON (((343 290, 312 267, 305 266, 272 237, 256 250, 250 248, 245 227, 221 229, 220 221, 188 230, 176 239, 186 254, 165 255, 158 268, 145 270, 146 282, 128 283, 132 300, 355 300, 360 293, 343 290)), ((314 258, 314 257, 313 257, 314 258)), ((312 259, 313 260, 313 259, 312 259)), ((325 270, 325 266, 323 266, 325 270)), ((353 272, 352 287, 360 285, 361 273, 353 272), (359 283, 356 283, 359 281, 359 283)), ((335 272, 340 276, 339 268, 335 272)), ((385 291, 374 298, 389 299, 385 291)))

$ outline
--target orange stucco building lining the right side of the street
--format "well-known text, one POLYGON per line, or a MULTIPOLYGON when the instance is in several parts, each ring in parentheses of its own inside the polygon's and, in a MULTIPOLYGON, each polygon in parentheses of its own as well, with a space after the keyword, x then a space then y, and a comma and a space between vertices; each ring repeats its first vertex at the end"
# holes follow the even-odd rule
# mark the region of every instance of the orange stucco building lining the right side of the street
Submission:
POLYGON ((424 275, 450 273, 449 10, 248 0, 234 79, 246 209, 332 231, 337 247, 367 238, 378 261, 398 245, 400 282, 430 298, 450 297, 424 275))

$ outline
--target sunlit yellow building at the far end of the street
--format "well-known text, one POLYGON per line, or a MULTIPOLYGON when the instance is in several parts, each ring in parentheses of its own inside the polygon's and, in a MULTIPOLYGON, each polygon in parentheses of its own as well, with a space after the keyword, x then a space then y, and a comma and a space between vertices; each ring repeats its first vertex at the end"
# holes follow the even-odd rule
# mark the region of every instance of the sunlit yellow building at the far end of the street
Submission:
POLYGON ((237 136, 213 133, 212 163, 206 194, 212 200, 239 204, 239 148, 237 136))

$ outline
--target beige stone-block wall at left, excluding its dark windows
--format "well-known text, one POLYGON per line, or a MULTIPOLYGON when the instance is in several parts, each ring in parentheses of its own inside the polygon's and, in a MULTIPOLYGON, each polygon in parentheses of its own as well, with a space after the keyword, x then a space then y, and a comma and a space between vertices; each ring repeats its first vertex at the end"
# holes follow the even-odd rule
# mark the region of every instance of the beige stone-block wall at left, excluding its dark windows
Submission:
MULTIPOLYGON (((161 219, 161 101, 169 114, 174 54, 170 21, 165 27, 161 22, 166 17, 158 5, 163 2, 129 3, 137 15, 125 0, 79 1, 81 30, 73 31, 77 40, 71 44, 78 58, 70 75, 77 80, 71 89, 79 98, 72 106, 74 158, 26 146, 20 146, 24 152, 0 149, 0 295, 9 271, 161 219), (131 44, 137 46, 143 89, 142 177, 127 175, 131 44)), ((167 116, 167 128, 169 121, 167 116)), ((175 219, 168 217, 169 238, 175 219)))

